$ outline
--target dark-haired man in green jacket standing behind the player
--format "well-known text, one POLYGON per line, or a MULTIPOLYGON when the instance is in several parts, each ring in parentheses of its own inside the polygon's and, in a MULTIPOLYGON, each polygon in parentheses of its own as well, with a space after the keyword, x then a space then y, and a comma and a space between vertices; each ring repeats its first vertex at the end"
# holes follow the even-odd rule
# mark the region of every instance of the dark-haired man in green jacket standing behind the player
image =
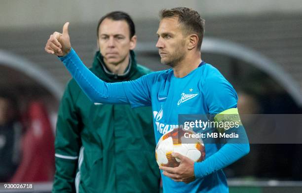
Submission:
MULTIPOLYGON (((119 82, 151 72, 136 63, 135 27, 127 13, 103 16, 97 39, 91 68, 97 77, 119 82)), ((93 104, 72 79, 58 113, 52 192, 159 192, 154 150, 151 108, 93 104)))

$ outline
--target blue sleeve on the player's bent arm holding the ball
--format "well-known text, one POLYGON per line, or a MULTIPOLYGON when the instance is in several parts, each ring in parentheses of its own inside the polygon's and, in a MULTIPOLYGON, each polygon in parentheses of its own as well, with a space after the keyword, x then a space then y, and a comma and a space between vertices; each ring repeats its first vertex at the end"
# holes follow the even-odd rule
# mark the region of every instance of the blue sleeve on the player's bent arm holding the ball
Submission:
MULTIPOLYGON (((237 108, 237 94, 231 84, 217 71, 204 83, 204 96, 210 116, 215 116, 227 109, 237 108)), ((227 167, 250 151, 248 138, 243 126, 225 131, 235 132, 240 141, 228 140, 216 153, 202 162, 194 163, 196 178, 203 178, 217 170, 227 167)))

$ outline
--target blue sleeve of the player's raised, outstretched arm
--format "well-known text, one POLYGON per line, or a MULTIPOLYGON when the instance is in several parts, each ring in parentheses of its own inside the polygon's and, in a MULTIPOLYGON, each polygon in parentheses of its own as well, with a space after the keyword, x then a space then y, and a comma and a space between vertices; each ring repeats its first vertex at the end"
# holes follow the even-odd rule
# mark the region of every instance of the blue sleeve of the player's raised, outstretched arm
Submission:
POLYGON ((73 48, 70 53, 59 58, 92 102, 130 103, 133 107, 150 106, 151 99, 146 78, 148 75, 133 81, 107 83, 86 68, 73 48))

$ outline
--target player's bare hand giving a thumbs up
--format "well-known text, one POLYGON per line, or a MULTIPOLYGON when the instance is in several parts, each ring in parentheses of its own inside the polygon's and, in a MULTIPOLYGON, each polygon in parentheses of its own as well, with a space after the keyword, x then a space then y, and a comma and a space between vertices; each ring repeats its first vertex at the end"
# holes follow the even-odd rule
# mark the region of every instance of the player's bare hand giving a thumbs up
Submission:
POLYGON ((69 22, 66 22, 63 26, 62 34, 54 32, 50 35, 45 45, 45 51, 49 54, 57 56, 65 56, 71 50, 70 38, 68 34, 69 22))

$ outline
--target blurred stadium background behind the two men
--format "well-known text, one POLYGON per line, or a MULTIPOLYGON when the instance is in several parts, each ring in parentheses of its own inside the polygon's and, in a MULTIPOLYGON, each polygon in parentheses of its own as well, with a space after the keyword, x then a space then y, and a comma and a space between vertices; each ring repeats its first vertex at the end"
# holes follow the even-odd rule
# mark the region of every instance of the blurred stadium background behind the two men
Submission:
MULTIPOLYGON (((125 11, 136 24, 138 62, 163 70, 155 47, 158 12, 177 6, 206 20, 202 59, 234 86, 239 113, 301 114, 301 0, 0 0, 0 182, 51 190, 56 112, 71 78, 44 51, 54 31, 69 21, 72 46, 90 66, 98 20, 125 11)), ((301 193, 301 154, 300 144, 252 144, 249 155, 225 169, 230 192, 301 193)))

